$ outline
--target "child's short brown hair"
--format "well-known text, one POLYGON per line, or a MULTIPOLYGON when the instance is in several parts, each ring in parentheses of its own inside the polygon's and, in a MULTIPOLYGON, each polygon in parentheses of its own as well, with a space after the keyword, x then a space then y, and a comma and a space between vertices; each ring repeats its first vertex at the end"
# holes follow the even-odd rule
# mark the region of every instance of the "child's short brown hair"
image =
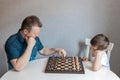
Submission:
POLYGON ((105 50, 109 45, 109 39, 104 34, 98 34, 90 41, 92 46, 97 46, 97 50, 105 50))

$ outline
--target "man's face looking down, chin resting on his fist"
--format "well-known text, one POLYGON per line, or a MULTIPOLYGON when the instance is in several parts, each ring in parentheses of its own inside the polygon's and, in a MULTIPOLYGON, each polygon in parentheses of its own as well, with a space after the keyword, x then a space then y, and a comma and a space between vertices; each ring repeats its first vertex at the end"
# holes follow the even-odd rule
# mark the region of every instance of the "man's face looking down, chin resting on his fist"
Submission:
POLYGON ((36 38, 39 35, 40 27, 33 26, 31 31, 28 31, 27 37, 33 37, 36 38))

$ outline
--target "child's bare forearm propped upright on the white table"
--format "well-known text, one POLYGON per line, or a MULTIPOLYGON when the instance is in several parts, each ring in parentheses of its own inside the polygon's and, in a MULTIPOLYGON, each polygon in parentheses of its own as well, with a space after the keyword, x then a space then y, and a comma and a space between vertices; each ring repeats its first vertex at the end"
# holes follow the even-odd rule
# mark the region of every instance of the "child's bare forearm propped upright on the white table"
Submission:
POLYGON ((95 61, 92 65, 93 71, 98 71, 102 67, 101 56, 102 56, 102 53, 100 51, 97 51, 95 61))

